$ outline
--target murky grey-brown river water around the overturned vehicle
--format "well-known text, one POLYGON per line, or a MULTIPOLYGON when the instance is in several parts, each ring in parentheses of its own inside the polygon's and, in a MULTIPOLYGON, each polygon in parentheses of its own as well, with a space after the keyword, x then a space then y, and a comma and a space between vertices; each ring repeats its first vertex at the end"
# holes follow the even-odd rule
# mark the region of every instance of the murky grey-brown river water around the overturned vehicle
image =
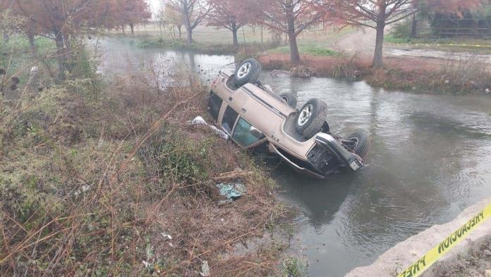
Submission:
MULTIPOLYGON (((172 58, 211 74, 231 56, 142 50, 104 41, 105 71, 134 61, 172 58), (109 48, 108 48, 109 47, 109 48), (200 65, 200 67, 198 67, 200 65)), ((337 134, 362 129, 372 136, 368 167, 327 180, 305 179, 279 167, 281 198, 301 211, 293 251, 311 276, 342 276, 373 262, 396 243, 456 217, 491 194, 491 97, 388 92, 365 82, 273 77, 262 81, 293 91, 299 105, 323 99, 337 134)))

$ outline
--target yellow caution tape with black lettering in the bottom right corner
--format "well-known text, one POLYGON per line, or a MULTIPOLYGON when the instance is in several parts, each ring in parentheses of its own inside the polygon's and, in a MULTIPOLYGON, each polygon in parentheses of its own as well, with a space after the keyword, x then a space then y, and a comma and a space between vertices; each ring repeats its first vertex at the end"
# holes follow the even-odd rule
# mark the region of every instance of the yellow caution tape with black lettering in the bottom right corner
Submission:
POLYGON ((426 255, 418 259, 414 264, 408 267, 405 271, 399 274, 399 277, 416 277, 419 276, 423 271, 428 269, 432 264, 435 264, 440 257, 445 255, 451 247, 454 247, 468 236, 471 231, 473 231, 477 226, 482 224, 487 217, 491 216, 491 205, 485 207, 483 212, 475 215, 471 220, 467 221, 454 233, 442 240, 442 242, 435 246, 432 250, 428 251, 426 255))

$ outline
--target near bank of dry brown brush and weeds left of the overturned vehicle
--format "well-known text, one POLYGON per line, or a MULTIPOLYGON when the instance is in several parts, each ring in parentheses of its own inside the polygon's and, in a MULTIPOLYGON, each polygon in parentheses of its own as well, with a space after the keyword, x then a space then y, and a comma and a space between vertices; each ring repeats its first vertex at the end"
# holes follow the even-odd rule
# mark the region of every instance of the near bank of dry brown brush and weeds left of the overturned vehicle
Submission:
POLYGON ((298 270, 284 262, 290 235, 279 223, 289 220, 269 174, 209 127, 188 124, 198 115, 211 121, 207 89, 183 72, 169 78, 188 86, 163 89, 148 82, 147 70, 70 79, 0 101, 0 222, 8 238, 0 271, 298 270), (241 183, 243 196, 227 200, 217 185, 230 183, 241 183), (236 251, 265 234, 269 240, 236 251))

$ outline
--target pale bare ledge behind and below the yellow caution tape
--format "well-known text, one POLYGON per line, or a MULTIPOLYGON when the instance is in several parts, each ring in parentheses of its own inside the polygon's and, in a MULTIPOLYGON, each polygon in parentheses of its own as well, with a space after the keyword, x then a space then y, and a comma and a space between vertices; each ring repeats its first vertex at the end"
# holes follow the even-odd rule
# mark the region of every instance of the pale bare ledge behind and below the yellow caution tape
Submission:
MULTIPOLYGON (((395 276, 396 273, 401 273, 416 259, 425 255, 428 250, 435 247, 490 203, 491 198, 487 198, 468 207, 453 221, 432 226, 418 233, 418 235, 398 243, 378 257, 370 266, 353 269, 346 276, 395 276)), ((491 220, 487 219, 478 228, 475 228, 465 240, 451 249, 447 255, 444 255, 437 264, 423 273, 423 276, 476 276, 474 273, 478 273, 477 276, 483 276, 485 270, 491 269, 490 234, 491 220)))

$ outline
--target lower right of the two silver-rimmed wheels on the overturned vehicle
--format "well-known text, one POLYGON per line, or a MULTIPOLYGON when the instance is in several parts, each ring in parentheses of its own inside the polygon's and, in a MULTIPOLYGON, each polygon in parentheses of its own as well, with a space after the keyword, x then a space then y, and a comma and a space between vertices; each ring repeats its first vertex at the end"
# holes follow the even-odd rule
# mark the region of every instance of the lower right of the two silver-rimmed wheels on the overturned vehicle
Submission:
POLYGON ((296 131, 305 139, 317 134, 327 117, 327 104, 317 98, 312 98, 298 112, 295 120, 296 131))

